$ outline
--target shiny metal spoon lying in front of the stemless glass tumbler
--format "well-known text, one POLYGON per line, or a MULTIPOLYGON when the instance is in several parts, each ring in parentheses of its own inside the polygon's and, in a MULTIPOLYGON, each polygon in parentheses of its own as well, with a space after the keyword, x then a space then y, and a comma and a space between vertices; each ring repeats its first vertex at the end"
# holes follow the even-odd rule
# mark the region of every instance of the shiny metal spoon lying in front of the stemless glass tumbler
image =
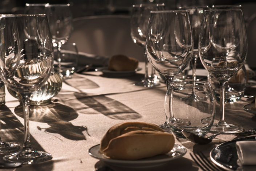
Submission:
POLYGON ((214 139, 217 135, 220 135, 220 134, 251 135, 251 134, 256 134, 256 128, 244 130, 244 131, 239 132, 239 133, 216 133, 216 134, 212 134, 209 137, 202 137, 202 136, 199 136, 199 135, 196 135, 196 134, 193 134, 193 133, 189 133, 187 131, 181 131, 181 132, 188 140, 190 140, 194 143, 208 144, 208 143, 212 142, 212 139, 214 139))

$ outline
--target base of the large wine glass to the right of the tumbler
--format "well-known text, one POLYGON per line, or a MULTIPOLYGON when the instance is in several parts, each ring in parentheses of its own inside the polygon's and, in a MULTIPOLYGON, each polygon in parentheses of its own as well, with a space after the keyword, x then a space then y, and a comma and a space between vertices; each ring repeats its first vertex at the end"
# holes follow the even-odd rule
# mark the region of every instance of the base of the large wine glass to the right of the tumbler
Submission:
POLYGON ((216 124, 212 126, 210 131, 212 133, 239 133, 243 131, 243 127, 227 123, 225 125, 216 124))

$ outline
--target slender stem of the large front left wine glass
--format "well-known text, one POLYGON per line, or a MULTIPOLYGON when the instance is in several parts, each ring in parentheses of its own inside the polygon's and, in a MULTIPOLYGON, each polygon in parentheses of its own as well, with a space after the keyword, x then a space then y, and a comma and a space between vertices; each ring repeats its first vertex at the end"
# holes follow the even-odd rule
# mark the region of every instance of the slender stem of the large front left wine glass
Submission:
POLYGON ((29 134, 29 98, 30 94, 22 95, 22 104, 23 104, 23 111, 24 111, 24 145, 23 150, 30 150, 30 134, 29 134))

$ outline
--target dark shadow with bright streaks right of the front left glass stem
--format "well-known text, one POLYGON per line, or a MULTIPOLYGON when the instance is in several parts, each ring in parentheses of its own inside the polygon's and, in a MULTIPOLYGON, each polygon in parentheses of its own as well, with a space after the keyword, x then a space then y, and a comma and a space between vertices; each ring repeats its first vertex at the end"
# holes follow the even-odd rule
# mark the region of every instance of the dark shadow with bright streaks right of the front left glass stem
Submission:
MULTIPOLYGON (((15 113, 18 116, 23 117, 23 109, 21 105, 15 107, 15 113)), ((64 138, 75 141, 86 140, 83 131, 86 131, 87 135, 90 136, 87 127, 85 125, 76 126, 69 122, 77 117, 78 114, 74 109, 60 103, 29 107, 30 121, 44 122, 50 126, 48 128, 37 126, 39 131, 60 134, 64 138)))

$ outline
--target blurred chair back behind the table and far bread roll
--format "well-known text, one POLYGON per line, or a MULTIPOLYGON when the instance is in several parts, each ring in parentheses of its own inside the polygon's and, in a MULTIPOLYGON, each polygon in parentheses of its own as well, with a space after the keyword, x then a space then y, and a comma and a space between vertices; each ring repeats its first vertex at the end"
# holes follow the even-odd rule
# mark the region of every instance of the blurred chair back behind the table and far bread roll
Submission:
POLYGON ((73 33, 69 41, 79 52, 100 56, 123 54, 144 61, 143 48, 130 36, 130 16, 86 16, 73 19, 73 33))

